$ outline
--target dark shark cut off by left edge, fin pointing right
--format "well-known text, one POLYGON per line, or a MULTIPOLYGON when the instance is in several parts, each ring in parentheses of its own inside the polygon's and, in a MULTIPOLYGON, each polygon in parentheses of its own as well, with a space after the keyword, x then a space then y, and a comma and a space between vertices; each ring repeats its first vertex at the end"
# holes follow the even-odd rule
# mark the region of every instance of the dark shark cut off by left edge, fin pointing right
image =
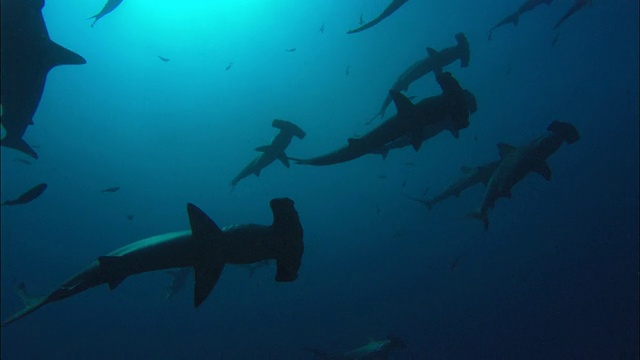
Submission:
POLYGON ((56 44, 42 17, 44 0, 2 0, 2 127, 6 131, 0 145, 23 152, 34 159, 38 154, 23 136, 33 125, 49 70, 58 65, 85 64, 80 55, 56 44))

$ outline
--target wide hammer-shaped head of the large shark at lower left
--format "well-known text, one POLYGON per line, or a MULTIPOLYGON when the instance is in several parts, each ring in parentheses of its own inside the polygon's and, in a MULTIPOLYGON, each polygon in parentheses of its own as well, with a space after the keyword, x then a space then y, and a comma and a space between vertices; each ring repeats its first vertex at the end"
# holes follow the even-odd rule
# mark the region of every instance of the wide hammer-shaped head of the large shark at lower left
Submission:
POLYGON ((273 199, 269 203, 273 213, 273 233, 280 255, 276 258, 276 281, 289 282, 298 278, 304 243, 298 212, 289 198, 273 199))

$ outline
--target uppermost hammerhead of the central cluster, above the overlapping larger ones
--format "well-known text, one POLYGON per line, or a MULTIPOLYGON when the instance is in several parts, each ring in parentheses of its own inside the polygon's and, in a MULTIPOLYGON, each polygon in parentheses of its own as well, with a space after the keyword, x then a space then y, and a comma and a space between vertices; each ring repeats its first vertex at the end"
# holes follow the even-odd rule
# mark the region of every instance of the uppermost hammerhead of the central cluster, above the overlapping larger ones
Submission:
MULTIPOLYGON (((434 72, 435 74, 442 73, 442 69, 451 64, 456 60, 460 60, 460 67, 465 68, 469 66, 469 42, 467 41, 467 37, 464 33, 457 33, 456 40, 458 41, 457 45, 450 46, 448 48, 442 49, 440 51, 436 51, 435 49, 428 47, 427 53, 428 56, 422 60, 415 62, 411 65, 407 70, 405 70, 399 77, 396 79, 396 82, 391 86, 391 90, 395 91, 407 91, 409 89, 409 85, 414 81, 420 79, 424 75, 434 72)), ((391 104, 392 98, 391 95, 387 95, 382 103, 382 107, 380 111, 367 121, 367 124, 371 123, 378 116, 381 118, 384 117, 384 113, 387 110, 389 104, 391 104)))

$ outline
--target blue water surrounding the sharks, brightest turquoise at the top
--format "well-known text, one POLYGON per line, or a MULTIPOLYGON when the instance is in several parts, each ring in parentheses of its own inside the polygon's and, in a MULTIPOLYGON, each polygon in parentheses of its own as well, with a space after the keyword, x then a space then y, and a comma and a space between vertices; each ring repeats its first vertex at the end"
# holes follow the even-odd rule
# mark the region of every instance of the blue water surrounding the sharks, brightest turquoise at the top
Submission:
MULTIPOLYGON (((25 135, 40 159, 2 149, 3 200, 49 184, 2 209, 2 319, 21 308, 20 281, 44 294, 97 256, 188 229, 187 202, 221 226, 269 224, 269 200, 290 197, 305 253, 293 283, 276 283, 274 266, 227 267, 198 309, 191 281, 163 300, 163 272, 91 289, 3 328, 2 358, 312 359, 304 346, 337 354, 393 334, 407 348, 392 359, 637 359, 638 2, 594 1, 551 46, 573 3, 554 1, 488 41, 520 2, 413 0, 347 35, 388 1, 124 0, 94 28, 85 19, 103 1, 48 1, 51 38, 87 64, 49 73, 25 135), (371 129, 425 47, 457 32, 471 63, 446 69, 479 108, 459 139, 386 160, 276 162, 230 191, 272 119, 307 132, 290 156, 342 146, 371 129), (497 159, 496 143, 526 144, 553 120, 580 141, 549 159, 551 182, 530 175, 499 200, 489 231, 465 216, 482 186, 430 212, 402 196, 435 195, 460 166, 497 159)), ((429 74, 407 94, 439 93, 429 74)))

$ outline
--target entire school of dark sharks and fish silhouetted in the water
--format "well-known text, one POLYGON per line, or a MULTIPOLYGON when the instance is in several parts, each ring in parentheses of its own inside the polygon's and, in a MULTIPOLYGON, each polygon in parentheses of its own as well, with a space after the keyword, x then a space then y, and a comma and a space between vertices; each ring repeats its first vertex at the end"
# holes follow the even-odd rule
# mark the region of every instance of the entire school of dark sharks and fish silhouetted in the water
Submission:
MULTIPOLYGON (((122 2, 123 0, 108 0, 104 8, 90 18, 92 23, 89 25, 99 26, 97 22, 106 15, 117 16, 117 7, 122 2)), ((401 8, 408 2, 391 1, 373 20, 364 22, 361 19, 359 27, 347 32, 354 35, 348 36, 358 36, 355 34, 374 26, 382 26, 378 24, 396 12, 394 16, 402 16, 401 8)), ((512 14, 489 28, 489 40, 495 37, 497 29, 518 25, 527 12, 542 5, 551 5, 552 2, 524 1, 512 14)), ((573 0, 554 29, 570 22, 570 18, 589 3, 591 1, 573 0)), ((2 0, 1 124, 4 137, 1 145, 33 160, 38 159, 38 153, 25 139, 25 135, 31 126, 37 126, 32 119, 45 91, 47 73, 56 66, 86 63, 80 54, 57 44, 54 41, 55 34, 50 37, 42 15, 44 5, 44 0, 2 0)), ((324 24, 320 31, 324 32, 324 24)), ((363 118, 368 119, 366 124, 371 126, 370 131, 361 136, 348 137, 344 146, 310 158, 287 154, 286 149, 291 142, 301 141, 307 134, 291 121, 274 119, 271 125, 276 131, 275 137, 270 143, 255 148, 258 153, 256 158, 231 180, 231 188, 239 186, 242 180, 251 175, 260 176, 261 171, 274 162, 280 162, 287 168, 294 164, 302 169, 306 166, 330 166, 358 161, 366 155, 380 156, 383 161, 395 149, 411 147, 417 152, 423 143, 441 133, 448 133, 458 139, 460 132, 465 131, 473 121, 473 114, 482 109, 482 103, 478 103, 475 95, 482 89, 468 89, 455 76, 460 71, 474 71, 473 44, 469 43, 464 33, 449 34, 448 39, 451 43, 449 47, 427 47, 424 58, 399 74, 397 80, 389 84, 386 93, 381 92, 384 100, 379 109, 372 109, 371 113, 375 112, 375 115, 370 117, 371 114, 363 114, 363 118), (413 82, 428 74, 432 74, 440 93, 413 100, 406 94, 407 90, 413 82), (396 113, 385 117, 392 104, 396 113), (378 119, 379 124, 376 124, 378 119)), ((291 48, 286 51, 295 50, 291 48)), ((162 62, 170 61, 163 56, 158 58, 162 62)), ((232 65, 230 63, 225 70, 229 70, 232 65)), ((265 134, 268 134, 268 129, 265 129, 265 134)), ((463 166, 460 178, 452 181, 441 193, 430 198, 403 195, 432 210, 434 205, 459 197, 465 190, 482 184, 485 187, 484 195, 479 199, 477 208, 469 209, 466 216, 479 220, 488 231, 489 212, 496 202, 502 198, 511 198, 514 187, 530 174, 538 174, 550 181, 552 173, 547 160, 563 144, 574 144, 579 139, 579 131, 572 125, 571 119, 542 119, 539 137, 526 144, 497 144, 498 157, 495 161, 473 167, 463 166)), ((28 163, 27 160, 20 161, 28 163)), ((23 194, 4 201, 2 205, 28 206, 26 204, 42 196, 46 189, 46 183, 38 184, 23 194)), ((102 192, 118 190, 119 187, 115 186, 102 192)), ((103 284, 115 289, 127 277, 149 271, 174 269, 170 272, 172 284, 167 297, 178 292, 184 286, 187 276, 193 273, 195 307, 200 306, 209 296, 225 265, 262 267, 264 264, 274 263, 275 281, 296 281, 304 253, 304 232, 300 218, 312 214, 300 217, 294 201, 287 197, 274 198, 269 206, 273 214, 271 224, 219 227, 198 206, 188 203, 186 213, 191 227, 189 230, 159 234, 99 256, 44 296, 30 294, 24 283, 20 283, 16 292, 24 301, 24 308, 6 319, 2 326, 22 319, 44 305, 103 284)), ((249 269, 253 271, 255 268, 249 269)), ((331 354, 313 348, 307 350, 322 359, 386 359, 392 352, 405 346, 402 339, 389 336, 388 339, 372 341, 344 354, 331 354)))

